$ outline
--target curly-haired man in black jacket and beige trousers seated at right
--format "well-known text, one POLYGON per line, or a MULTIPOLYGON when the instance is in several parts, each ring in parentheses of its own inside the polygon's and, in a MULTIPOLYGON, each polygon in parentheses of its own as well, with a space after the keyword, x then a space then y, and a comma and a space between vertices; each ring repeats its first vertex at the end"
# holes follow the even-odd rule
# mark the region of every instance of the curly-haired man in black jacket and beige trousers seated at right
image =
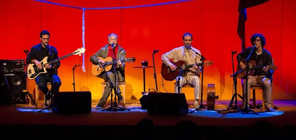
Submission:
MULTIPOLYGON (((273 65, 271 54, 263 49, 265 46, 265 37, 262 34, 253 34, 251 37, 251 43, 253 47, 246 48, 244 51, 239 53, 236 56, 237 62, 240 64, 241 68, 246 68, 245 59, 248 58, 249 54, 252 52, 249 60, 254 60, 259 64, 259 66, 268 66, 273 65)), ((249 64, 249 62, 248 62, 249 64)), ((250 87, 254 84, 261 84, 263 86, 264 91, 264 102, 266 111, 272 112, 274 111, 273 107, 271 107, 271 85, 272 85, 272 75, 273 71, 271 69, 267 69, 264 67, 263 69, 259 69, 253 75, 248 76, 248 106, 250 102, 250 87)), ((255 106, 255 105, 254 105, 255 106)), ((246 107, 246 81, 243 87, 243 108, 246 107)))

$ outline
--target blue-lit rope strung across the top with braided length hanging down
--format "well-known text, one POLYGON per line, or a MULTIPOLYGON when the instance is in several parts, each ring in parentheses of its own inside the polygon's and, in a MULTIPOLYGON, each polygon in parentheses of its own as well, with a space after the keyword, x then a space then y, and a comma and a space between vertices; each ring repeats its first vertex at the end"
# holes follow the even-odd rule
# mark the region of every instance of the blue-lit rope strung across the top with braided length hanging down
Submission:
MULTIPOLYGON (((84 15, 85 15, 85 10, 106 10, 106 9, 124 9, 124 8, 137 8, 137 7, 148 7, 148 6, 160 6, 160 5, 167 5, 167 4, 174 4, 174 3, 180 3, 180 2, 188 2, 188 1, 193 1, 193 0, 178 0, 178 1, 173 1, 173 2, 164 2, 164 3, 157 3, 157 4, 148 4, 148 5, 140 5, 140 6, 125 6, 125 7, 106 7, 106 8, 82 8, 82 7, 76 7, 76 6, 68 6, 60 3, 55 3, 55 2, 49 2, 46 0, 34 0, 38 2, 44 2, 44 3, 49 3, 49 4, 54 4, 54 5, 59 5, 59 6, 66 6, 70 8, 76 8, 76 9, 82 9, 82 47, 85 49, 85 42, 84 42, 84 33, 85 33, 85 26, 84 26, 84 15)), ((82 71, 85 72, 85 67, 84 67, 84 53, 82 54, 82 71)))

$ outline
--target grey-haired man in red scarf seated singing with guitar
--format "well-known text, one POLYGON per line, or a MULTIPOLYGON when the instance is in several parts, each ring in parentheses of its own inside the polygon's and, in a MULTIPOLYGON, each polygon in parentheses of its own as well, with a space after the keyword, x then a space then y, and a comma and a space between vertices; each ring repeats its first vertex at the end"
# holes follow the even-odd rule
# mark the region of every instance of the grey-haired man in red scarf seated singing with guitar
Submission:
MULTIPOLYGON (((126 52, 123 48, 121 48, 118 44, 117 44, 117 35, 114 33, 111 33, 108 36, 108 45, 105 45, 104 47, 102 47, 97 53, 95 53, 94 55, 92 55, 90 57, 90 61, 93 64, 99 64, 99 63, 104 63, 103 60, 99 59, 98 57, 102 57, 102 58, 107 58, 107 57, 112 57, 114 60, 118 60, 117 61, 117 65, 116 65, 116 80, 119 82, 124 82, 125 81, 125 74, 124 74, 124 68, 125 68, 125 63, 122 62, 120 60, 125 59, 125 55, 126 52)), ((116 83, 116 89, 117 89, 117 99, 118 99, 118 103, 123 101, 123 97, 121 95, 121 90, 118 86, 118 82, 114 81, 115 77, 114 77, 114 68, 112 67, 108 72, 107 75, 109 76, 110 80, 112 81, 113 84, 116 83)), ((98 77, 103 78, 105 80, 105 82, 107 82, 106 87, 105 87, 105 91, 97 105, 97 109, 101 109, 105 106, 105 103, 111 93, 111 86, 110 86, 110 82, 108 80, 108 78, 105 76, 105 72, 101 72, 98 77)), ((115 85, 114 85, 115 86, 115 85)))

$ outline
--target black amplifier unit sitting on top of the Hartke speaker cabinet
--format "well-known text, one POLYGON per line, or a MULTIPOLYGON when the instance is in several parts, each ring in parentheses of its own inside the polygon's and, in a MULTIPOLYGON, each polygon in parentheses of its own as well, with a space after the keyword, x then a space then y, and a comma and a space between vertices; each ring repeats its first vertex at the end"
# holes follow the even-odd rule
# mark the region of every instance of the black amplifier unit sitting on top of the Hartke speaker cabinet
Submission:
POLYGON ((0 72, 25 71, 25 60, 0 60, 0 72))

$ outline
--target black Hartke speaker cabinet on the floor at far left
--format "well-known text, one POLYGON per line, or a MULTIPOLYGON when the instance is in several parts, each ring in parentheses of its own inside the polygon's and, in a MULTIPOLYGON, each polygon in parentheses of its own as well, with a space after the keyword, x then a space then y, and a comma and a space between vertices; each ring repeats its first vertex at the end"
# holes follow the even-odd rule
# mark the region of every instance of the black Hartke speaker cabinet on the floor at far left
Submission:
POLYGON ((0 73, 0 104, 11 105, 13 103, 12 97, 16 104, 25 103, 25 72, 13 71, 10 73, 0 73), (5 79, 6 77, 6 79, 5 79), (7 83, 6 83, 7 80, 7 83), (9 88, 12 94, 10 94, 9 88))

